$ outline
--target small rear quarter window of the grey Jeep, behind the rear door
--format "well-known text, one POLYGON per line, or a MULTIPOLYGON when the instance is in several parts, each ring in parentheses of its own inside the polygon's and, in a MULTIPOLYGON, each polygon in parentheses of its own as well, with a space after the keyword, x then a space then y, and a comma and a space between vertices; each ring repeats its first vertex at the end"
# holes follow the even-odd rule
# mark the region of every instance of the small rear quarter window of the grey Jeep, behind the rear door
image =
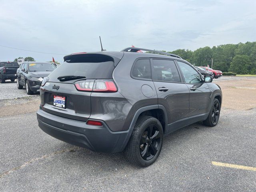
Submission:
POLYGON ((135 78, 151 79, 149 59, 139 59, 132 69, 132 76, 135 78))

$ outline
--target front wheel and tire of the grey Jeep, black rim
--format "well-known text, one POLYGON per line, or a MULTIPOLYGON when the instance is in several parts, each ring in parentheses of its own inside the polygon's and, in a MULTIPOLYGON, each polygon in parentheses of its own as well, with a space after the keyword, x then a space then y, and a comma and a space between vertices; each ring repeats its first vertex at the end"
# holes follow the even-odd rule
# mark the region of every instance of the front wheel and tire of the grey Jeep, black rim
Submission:
POLYGON ((216 124, 218 124, 219 118, 220 118, 220 102, 218 99, 215 98, 207 119, 203 121, 204 125, 209 127, 214 127, 216 126, 216 124))

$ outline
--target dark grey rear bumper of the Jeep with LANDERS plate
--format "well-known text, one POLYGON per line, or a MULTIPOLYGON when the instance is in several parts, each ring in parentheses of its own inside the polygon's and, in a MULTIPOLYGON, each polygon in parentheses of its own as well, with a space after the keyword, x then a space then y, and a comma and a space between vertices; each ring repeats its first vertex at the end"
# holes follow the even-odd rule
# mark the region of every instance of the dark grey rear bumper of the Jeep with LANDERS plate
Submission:
POLYGON ((37 112, 38 126, 50 136, 64 142, 97 152, 121 152, 124 150, 132 129, 112 132, 103 126, 91 126, 86 122, 52 115, 42 109, 37 112))

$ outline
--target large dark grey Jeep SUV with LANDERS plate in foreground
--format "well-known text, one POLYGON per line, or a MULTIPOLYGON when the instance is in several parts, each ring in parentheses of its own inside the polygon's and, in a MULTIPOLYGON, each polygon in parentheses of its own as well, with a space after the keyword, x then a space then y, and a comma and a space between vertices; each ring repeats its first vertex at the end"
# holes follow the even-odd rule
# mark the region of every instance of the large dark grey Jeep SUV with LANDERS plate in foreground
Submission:
POLYGON ((179 56, 155 50, 71 54, 42 81, 38 124, 59 140, 125 150, 132 163, 149 166, 165 134, 218 123, 222 92, 211 82, 179 56))

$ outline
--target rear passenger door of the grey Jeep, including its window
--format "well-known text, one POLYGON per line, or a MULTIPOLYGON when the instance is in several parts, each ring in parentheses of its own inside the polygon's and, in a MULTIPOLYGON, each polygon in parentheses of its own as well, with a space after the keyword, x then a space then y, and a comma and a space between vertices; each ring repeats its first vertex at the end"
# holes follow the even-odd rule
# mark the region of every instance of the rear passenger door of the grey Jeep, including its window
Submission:
POLYGON ((158 104, 166 108, 168 126, 165 133, 186 125, 189 116, 189 89, 181 82, 174 60, 152 59, 153 82, 158 104))

